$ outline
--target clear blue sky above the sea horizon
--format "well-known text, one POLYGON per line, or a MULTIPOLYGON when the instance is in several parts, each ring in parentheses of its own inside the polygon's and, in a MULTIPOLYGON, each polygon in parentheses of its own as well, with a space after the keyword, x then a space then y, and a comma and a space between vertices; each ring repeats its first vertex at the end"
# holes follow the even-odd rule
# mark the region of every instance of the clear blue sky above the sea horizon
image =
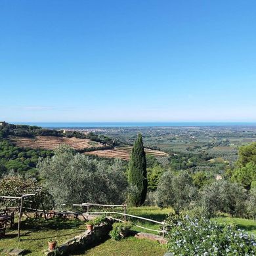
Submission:
POLYGON ((0 120, 256 121, 255 0, 0 0, 0 120))

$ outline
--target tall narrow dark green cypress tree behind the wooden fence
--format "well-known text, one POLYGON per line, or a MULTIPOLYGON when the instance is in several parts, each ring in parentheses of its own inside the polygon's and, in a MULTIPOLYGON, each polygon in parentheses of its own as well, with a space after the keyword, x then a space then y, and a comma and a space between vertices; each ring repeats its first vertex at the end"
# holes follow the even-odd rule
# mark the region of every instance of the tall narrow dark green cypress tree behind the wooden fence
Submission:
POLYGON ((146 154, 142 141, 142 135, 139 133, 129 161, 128 171, 129 182, 129 201, 131 204, 139 206, 145 202, 148 181, 146 179, 146 154))

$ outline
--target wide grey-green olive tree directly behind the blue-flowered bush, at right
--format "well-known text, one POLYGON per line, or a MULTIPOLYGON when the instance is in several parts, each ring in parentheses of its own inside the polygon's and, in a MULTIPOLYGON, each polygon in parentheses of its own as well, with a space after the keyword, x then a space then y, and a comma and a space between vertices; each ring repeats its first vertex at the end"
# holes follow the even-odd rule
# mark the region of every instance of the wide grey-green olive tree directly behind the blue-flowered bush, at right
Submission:
POLYGON ((198 203, 204 207, 209 217, 218 211, 233 215, 245 212, 245 189, 238 183, 219 180, 205 186, 200 192, 198 203))

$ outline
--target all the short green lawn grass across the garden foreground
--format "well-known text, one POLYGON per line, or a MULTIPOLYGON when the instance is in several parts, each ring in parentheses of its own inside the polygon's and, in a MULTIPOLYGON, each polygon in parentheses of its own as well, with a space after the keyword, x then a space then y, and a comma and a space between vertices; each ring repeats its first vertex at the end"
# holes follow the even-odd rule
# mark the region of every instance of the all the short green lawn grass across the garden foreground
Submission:
MULTIPOLYGON (((127 213, 137 215, 156 221, 163 221, 167 214, 172 212, 171 208, 160 209, 158 207, 128 207, 127 213)), ((117 217, 117 216, 116 216, 117 217)), ((136 221, 130 219, 133 223, 148 228, 160 230, 160 224, 149 223, 148 221, 136 221)), ((236 224, 238 228, 245 230, 256 236, 256 221, 242 218, 217 217, 213 219, 218 223, 236 224)), ((17 224, 16 224, 17 225, 17 224)), ((56 238, 58 245, 66 242, 69 238, 80 234, 85 230, 85 223, 79 220, 66 219, 24 219, 22 221, 21 241, 17 240, 17 226, 7 229, 5 238, 0 239, 1 249, 26 249, 27 255, 40 256, 47 249, 49 238, 56 238)), ((132 230, 140 232, 150 232, 142 228, 133 226, 132 230)), ((154 232, 150 232, 154 233, 154 232)), ((158 234, 158 233, 155 233, 158 234)), ((77 252, 74 255, 163 255, 167 251, 166 245, 160 245, 157 242, 148 240, 138 240, 129 237, 124 240, 106 240, 103 244, 97 245, 87 251, 77 252)))

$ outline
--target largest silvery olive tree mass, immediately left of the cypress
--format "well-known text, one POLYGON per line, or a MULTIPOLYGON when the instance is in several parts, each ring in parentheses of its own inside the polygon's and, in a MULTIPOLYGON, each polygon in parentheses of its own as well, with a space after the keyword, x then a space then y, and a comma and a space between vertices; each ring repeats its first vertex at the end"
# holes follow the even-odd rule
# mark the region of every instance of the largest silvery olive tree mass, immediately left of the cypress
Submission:
POLYGON ((57 207, 63 203, 123 203, 127 181, 123 161, 92 159, 69 146, 54 150, 53 158, 37 165, 43 185, 57 207))

